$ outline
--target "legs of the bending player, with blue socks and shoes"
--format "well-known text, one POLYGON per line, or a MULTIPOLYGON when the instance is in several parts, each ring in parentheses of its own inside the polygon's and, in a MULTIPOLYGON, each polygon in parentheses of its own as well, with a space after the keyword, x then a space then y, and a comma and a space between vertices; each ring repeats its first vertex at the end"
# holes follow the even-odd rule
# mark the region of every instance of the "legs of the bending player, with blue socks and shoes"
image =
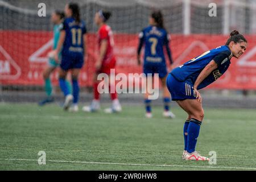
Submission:
POLYGON ((184 130, 184 141, 187 135, 187 152, 183 152, 183 159, 185 160, 209 160, 204 156, 201 156, 195 151, 197 138, 199 136, 199 129, 201 122, 204 118, 204 110, 202 104, 197 100, 184 100, 177 101, 177 104, 188 113, 189 124, 187 132, 184 130), (185 134, 187 133, 187 134, 185 134))

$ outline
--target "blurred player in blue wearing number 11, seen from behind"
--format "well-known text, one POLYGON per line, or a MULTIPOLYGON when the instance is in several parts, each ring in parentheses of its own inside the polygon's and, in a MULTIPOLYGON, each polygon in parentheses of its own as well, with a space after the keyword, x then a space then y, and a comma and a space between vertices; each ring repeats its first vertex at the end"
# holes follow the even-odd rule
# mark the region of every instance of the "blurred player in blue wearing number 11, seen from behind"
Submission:
POLYGON ((59 43, 55 52, 55 60, 58 59, 58 52, 61 47, 61 63, 59 71, 59 84, 64 93, 64 110, 78 111, 79 101, 79 72, 84 65, 84 56, 86 52, 86 27, 80 19, 79 6, 76 3, 69 3, 65 6, 65 20, 60 32, 59 43), (65 81, 68 71, 72 73, 73 95, 68 89, 65 81), (73 105, 72 104, 73 101, 73 105), (70 107, 70 108, 69 108, 70 107))

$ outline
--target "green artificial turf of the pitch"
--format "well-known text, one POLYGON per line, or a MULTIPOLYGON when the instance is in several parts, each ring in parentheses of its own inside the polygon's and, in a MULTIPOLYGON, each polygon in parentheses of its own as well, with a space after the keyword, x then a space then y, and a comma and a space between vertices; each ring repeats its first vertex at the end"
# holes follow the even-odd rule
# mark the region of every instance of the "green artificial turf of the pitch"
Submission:
MULTIPOLYGON (((80 107, 81 109, 81 107, 80 107)), ((0 104, 0 170, 250 170, 256 169, 256 111, 204 108, 197 151, 216 151, 217 164, 181 160, 183 123, 144 117, 144 106, 122 113, 64 112, 56 104, 0 104), (39 151, 46 165, 39 165, 39 151), (148 165, 150 164, 150 165, 148 165)))

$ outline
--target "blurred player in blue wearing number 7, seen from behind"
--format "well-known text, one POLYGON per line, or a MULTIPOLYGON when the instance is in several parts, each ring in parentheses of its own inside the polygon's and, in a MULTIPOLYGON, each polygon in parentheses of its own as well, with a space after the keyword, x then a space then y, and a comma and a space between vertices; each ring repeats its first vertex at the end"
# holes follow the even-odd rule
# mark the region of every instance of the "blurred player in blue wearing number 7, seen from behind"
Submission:
MULTIPOLYGON (((175 115, 170 111, 170 93, 166 87, 166 77, 167 68, 166 60, 164 58, 163 47, 166 48, 168 59, 170 64, 172 64, 171 50, 169 47, 170 35, 168 35, 166 29, 164 28, 163 15, 161 11, 154 11, 149 18, 150 26, 144 28, 139 34, 139 46, 137 59, 138 64, 141 64, 141 49, 144 46, 144 63, 143 63, 143 73, 154 73, 159 74, 159 78, 163 86, 163 102, 164 102, 164 117, 175 118, 175 115)), ((153 80, 152 80, 153 82, 153 80)), ((152 83, 153 85, 153 83, 152 83)), ((151 100, 148 100, 148 90, 146 89, 146 94, 144 95, 144 104, 146 105, 146 117, 152 117, 151 111, 151 100)))

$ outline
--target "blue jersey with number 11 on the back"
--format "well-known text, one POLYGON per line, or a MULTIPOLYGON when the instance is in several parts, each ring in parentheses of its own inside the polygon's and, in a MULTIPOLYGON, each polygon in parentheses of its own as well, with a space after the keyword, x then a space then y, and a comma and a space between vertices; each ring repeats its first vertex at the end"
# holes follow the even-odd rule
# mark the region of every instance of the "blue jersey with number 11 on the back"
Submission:
POLYGON ((62 30, 65 31, 65 40, 62 53, 84 53, 83 35, 86 34, 84 22, 77 23, 74 18, 65 18, 62 30))

